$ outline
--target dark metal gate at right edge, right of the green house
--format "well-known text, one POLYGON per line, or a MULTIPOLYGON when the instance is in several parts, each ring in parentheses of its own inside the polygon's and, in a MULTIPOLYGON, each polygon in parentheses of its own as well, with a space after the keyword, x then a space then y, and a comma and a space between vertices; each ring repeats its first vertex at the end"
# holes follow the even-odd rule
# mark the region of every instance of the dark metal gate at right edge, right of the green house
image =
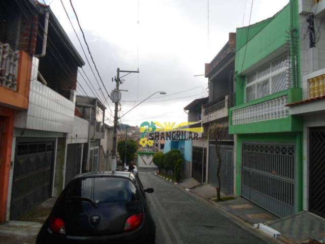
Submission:
POLYGON ((325 128, 310 129, 309 210, 325 218, 325 128))

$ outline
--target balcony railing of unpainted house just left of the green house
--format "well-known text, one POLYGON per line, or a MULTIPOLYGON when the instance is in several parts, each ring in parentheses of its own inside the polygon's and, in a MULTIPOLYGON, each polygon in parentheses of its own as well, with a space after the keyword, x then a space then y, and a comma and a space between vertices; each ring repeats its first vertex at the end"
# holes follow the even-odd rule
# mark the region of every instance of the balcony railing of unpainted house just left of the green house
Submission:
POLYGON ((231 96, 226 95, 203 106, 203 123, 228 116, 231 96))

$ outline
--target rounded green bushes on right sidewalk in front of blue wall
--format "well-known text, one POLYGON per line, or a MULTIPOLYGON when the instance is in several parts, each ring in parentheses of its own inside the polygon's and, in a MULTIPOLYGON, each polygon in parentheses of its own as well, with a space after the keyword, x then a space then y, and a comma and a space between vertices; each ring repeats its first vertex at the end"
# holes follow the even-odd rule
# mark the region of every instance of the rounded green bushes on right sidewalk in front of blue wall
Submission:
POLYGON ((153 163, 160 172, 174 177, 176 181, 181 179, 184 158, 180 150, 172 149, 167 154, 157 152, 153 155, 153 163))

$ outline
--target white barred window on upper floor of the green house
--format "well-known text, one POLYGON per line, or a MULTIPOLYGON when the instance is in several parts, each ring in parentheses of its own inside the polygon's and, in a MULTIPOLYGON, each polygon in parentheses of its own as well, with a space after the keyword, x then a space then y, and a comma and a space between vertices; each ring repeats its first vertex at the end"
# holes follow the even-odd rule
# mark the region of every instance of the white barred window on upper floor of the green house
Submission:
POLYGON ((263 98, 287 89, 290 86, 287 79, 288 71, 288 55, 285 53, 247 75, 245 101, 263 98))

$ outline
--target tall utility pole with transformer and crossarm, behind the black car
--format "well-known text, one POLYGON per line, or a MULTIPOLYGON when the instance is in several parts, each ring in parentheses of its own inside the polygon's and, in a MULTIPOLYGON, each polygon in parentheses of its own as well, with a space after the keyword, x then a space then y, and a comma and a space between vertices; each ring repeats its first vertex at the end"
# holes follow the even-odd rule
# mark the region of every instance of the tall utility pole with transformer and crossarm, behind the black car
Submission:
MULTIPOLYGON (((131 74, 131 73, 139 73, 139 70, 137 71, 127 71, 127 70, 120 70, 120 68, 117 68, 116 71, 116 77, 115 77, 115 82, 116 86, 115 89, 111 93, 111 99, 112 102, 115 103, 115 110, 114 110, 114 134, 113 134, 113 153, 112 153, 112 167, 111 170, 115 171, 117 167, 117 123, 118 123, 118 103, 121 100, 121 93, 119 86, 122 84, 120 77, 120 73, 127 73, 123 75, 122 77, 131 74)), ((112 81, 114 81, 112 78, 112 81)))

